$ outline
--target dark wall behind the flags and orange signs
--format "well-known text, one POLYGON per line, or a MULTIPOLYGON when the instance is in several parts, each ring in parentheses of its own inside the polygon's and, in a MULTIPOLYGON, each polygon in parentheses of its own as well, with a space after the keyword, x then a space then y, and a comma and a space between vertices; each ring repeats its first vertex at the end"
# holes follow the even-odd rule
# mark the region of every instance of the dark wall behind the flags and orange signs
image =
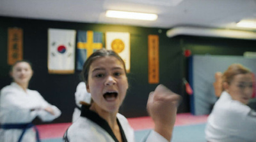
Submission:
MULTIPOLYGON (((146 104, 149 92, 157 84, 148 84, 148 34, 159 35, 159 81, 173 92, 183 96, 179 113, 189 112, 189 97, 184 92, 182 78, 187 76, 184 49, 193 54, 243 55, 244 51, 256 51, 256 41, 177 36, 168 38, 168 29, 135 27, 126 25, 86 24, 78 22, 60 22, 33 20, 25 18, 0 17, 0 88, 11 83, 7 65, 7 29, 20 27, 24 32, 24 59, 33 64, 34 75, 29 89, 38 90, 51 104, 62 111, 57 122, 71 122, 75 107, 74 92, 81 81, 80 72, 74 75, 51 75, 47 71, 47 29, 74 29, 92 31, 130 32, 131 34, 131 73, 128 74, 129 90, 120 113, 125 117, 147 116, 146 104)), ((105 39, 105 37, 103 37, 105 39)), ((103 46, 105 41, 103 43, 103 46)), ((39 121, 36 123, 40 123, 39 121)))

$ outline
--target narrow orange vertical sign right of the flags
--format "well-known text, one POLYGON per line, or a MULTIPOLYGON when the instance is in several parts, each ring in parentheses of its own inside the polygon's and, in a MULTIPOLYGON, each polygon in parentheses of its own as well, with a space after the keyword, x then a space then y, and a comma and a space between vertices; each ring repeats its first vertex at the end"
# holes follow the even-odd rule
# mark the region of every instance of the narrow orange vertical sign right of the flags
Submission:
POLYGON ((159 83, 159 37, 148 35, 148 83, 159 83))

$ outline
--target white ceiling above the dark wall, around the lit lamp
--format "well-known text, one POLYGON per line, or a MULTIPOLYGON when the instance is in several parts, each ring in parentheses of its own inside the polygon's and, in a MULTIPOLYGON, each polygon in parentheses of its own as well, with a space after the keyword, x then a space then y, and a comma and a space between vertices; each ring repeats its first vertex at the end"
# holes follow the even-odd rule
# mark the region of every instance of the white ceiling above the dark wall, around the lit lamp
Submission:
POLYGON ((0 16, 157 28, 191 25, 237 29, 235 24, 240 20, 256 20, 256 0, 0 0, 0 16), (106 10, 156 13, 158 18, 151 22, 108 18, 106 10))

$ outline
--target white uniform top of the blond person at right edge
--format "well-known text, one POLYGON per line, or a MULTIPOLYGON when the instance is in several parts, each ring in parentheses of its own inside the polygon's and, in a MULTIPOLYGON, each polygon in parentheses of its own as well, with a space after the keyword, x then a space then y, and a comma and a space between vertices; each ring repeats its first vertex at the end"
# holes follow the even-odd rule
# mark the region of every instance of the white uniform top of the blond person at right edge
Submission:
POLYGON ((256 112, 224 91, 209 115, 205 136, 211 142, 255 142, 256 112))

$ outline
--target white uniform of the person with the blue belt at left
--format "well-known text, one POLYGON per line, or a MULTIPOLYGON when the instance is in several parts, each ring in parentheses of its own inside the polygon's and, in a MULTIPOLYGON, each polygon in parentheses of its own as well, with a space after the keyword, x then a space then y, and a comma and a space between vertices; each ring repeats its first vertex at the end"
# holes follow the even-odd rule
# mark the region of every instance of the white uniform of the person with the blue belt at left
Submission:
MULTIPOLYGON (((1 90, 0 94, 0 124, 28 124, 35 117, 48 122, 61 115, 61 111, 47 103, 45 99, 36 91, 27 89, 26 92, 17 84, 11 83, 1 90), (43 110, 51 107, 54 115, 43 110), (33 110, 36 109, 36 110, 33 110)), ((17 142, 22 129, 0 129, 1 142, 17 142)), ((22 142, 34 142, 35 131, 33 127, 26 130, 22 137, 22 142)))

